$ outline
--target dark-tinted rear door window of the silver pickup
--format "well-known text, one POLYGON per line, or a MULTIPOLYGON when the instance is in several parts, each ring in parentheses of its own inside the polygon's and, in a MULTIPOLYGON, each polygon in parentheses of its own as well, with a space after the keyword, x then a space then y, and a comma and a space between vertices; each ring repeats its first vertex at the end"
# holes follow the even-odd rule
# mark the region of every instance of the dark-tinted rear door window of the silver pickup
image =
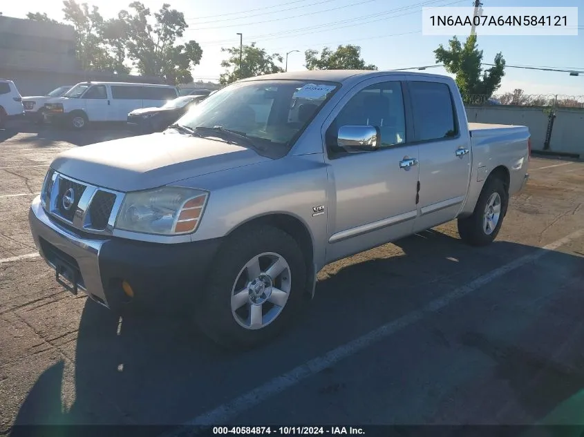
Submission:
POLYGON ((437 82, 409 83, 416 136, 419 141, 458 135, 450 88, 437 82))

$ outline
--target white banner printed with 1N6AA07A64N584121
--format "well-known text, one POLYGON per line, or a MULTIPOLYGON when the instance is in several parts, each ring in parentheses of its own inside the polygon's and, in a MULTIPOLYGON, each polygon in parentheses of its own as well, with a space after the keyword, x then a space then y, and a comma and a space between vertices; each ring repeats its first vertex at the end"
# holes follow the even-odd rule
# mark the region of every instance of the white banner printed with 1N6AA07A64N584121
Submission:
POLYGON ((578 8, 422 8, 422 35, 578 35, 578 8))

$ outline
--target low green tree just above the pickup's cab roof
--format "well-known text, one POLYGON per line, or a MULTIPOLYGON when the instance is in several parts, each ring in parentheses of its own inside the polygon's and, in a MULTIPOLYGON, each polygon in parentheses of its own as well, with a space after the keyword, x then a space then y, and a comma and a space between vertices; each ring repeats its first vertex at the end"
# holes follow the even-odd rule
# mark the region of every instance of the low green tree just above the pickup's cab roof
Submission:
POLYGON ((323 48, 320 57, 318 50, 304 52, 308 70, 377 70, 373 64, 365 64, 361 59, 361 47, 339 46, 334 52, 330 48, 323 48))

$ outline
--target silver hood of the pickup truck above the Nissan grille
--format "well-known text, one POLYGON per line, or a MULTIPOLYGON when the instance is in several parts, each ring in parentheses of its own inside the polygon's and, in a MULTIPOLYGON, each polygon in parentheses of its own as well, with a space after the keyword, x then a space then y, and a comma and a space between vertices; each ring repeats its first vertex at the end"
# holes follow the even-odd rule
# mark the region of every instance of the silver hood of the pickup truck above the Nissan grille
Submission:
POLYGON ((72 148, 51 167, 88 184, 136 191, 265 161, 251 148, 164 132, 72 148))

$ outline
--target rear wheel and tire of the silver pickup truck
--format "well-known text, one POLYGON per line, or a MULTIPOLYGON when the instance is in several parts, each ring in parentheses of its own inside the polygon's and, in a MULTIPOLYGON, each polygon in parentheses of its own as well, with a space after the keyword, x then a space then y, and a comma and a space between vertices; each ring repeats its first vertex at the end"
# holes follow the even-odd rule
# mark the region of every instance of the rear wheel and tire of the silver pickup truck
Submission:
POLYGON ((473 215, 458 219, 458 234, 471 246, 486 246, 497 237, 507 213, 509 194, 498 177, 485 182, 473 215))

